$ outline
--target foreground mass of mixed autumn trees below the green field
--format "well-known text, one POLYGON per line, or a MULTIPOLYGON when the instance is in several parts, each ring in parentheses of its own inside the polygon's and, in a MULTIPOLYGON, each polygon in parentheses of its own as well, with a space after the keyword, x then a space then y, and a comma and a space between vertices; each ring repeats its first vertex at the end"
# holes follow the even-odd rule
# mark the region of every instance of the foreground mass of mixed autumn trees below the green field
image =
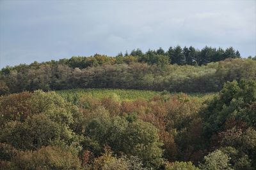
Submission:
POLYGON ((93 90, 75 102, 66 92, 0 97, 3 169, 255 169, 256 81, 226 83, 204 104, 168 92, 86 95, 93 90))

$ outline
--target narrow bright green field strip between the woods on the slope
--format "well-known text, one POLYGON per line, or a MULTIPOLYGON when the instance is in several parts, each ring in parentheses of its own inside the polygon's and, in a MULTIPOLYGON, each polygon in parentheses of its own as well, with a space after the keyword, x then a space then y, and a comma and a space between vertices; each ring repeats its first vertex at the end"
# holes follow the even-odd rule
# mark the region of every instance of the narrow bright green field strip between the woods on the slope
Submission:
MULTIPOLYGON (((70 89, 56 91, 63 98, 68 101, 76 103, 80 97, 93 97, 96 99, 103 99, 106 97, 118 97, 120 101, 136 101, 136 99, 150 100, 154 96, 159 96, 163 92, 156 92, 152 90, 131 90, 131 89, 70 89)), ((181 94, 172 93, 171 95, 181 94)), ((189 97, 205 101, 214 96, 215 93, 195 93, 188 94, 189 97)))

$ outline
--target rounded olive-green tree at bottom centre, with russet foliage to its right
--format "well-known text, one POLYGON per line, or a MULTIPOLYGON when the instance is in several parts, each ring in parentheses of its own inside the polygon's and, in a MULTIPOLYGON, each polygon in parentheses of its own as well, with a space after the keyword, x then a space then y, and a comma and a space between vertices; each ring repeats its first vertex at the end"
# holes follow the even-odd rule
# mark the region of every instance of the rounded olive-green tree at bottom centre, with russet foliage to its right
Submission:
POLYGON ((127 126, 124 133, 123 147, 127 155, 138 156, 146 167, 159 168, 163 159, 157 136, 157 129, 152 124, 137 120, 127 126))

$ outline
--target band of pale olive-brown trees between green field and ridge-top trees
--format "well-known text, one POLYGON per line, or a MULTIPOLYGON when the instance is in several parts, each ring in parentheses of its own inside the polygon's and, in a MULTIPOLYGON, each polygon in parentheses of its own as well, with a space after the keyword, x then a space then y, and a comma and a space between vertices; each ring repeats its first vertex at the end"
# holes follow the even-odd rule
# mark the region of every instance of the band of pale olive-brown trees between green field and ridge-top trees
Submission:
POLYGON ((218 92, 226 81, 256 78, 256 61, 252 59, 226 59, 204 66, 128 63, 106 63, 84 69, 59 62, 5 67, 0 72, 0 94, 74 88, 218 92))

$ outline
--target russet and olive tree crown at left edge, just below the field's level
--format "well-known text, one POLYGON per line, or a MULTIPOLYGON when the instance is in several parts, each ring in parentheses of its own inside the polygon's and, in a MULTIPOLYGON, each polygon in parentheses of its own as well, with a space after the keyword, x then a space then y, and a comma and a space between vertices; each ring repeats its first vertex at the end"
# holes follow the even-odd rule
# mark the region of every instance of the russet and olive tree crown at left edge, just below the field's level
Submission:
POLYGON ((72 114, 77 114, 78 108, 72 106, 55 92, 33 93, 22 92, 0 97, 1 125, 17 120, 24 122, 27 117, 44 113, 54 122, 70 125, 74 122, 72 114))

